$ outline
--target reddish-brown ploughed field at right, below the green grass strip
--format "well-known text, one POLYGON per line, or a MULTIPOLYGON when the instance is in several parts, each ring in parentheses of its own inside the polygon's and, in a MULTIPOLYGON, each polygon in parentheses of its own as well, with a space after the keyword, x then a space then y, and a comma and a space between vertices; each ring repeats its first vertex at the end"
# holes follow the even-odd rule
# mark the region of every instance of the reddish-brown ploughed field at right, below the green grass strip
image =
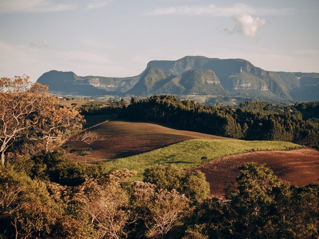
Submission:
POLYGON ((223 195, 226 184, 236 181, 245 162, 265 163, 286 182, 302 186, 319 178, 319 152, 312 149, 259 151, 226 156, 199 166, 206 174, 212 195, 223 195))

